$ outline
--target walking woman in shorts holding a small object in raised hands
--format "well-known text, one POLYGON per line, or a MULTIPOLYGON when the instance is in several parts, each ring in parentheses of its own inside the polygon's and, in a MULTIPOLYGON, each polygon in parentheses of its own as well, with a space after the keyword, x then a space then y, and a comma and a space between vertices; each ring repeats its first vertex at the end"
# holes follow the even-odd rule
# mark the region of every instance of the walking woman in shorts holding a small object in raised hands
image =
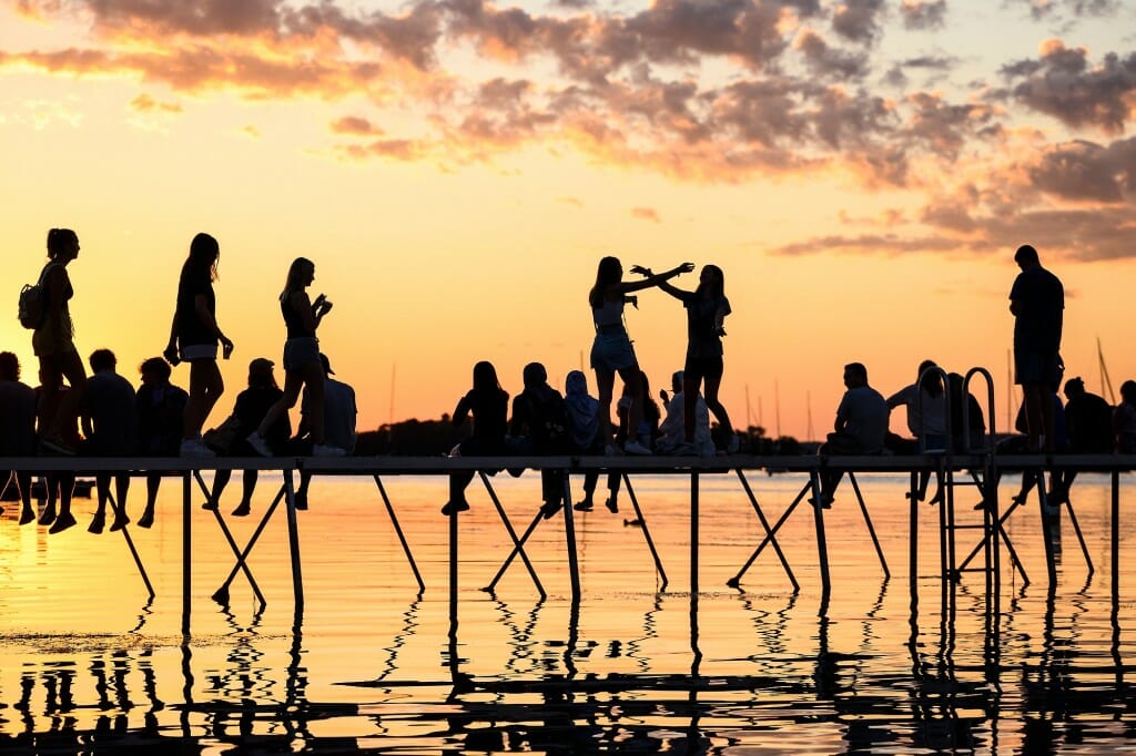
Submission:
POLYGON ((308 299, 308 287, 316 279, 316 263, 307 258, 296 258, 287 269, 284 291, 281 292, 281 313, 287 327, 284 342, 284 395, 268 409, 260 427, 249 434, 248 442, 261 456, 273 452, 265 440, 265 434, 282 413, 295 406, 300 390, 307 386, 311 398, 308 415, 314 456, 343 456, 345 450, 327 446, 324 435, 324 363, 319 361, 319 339, 316 329, 331 309, 332 303, 323 294, 312 302, 308 299))

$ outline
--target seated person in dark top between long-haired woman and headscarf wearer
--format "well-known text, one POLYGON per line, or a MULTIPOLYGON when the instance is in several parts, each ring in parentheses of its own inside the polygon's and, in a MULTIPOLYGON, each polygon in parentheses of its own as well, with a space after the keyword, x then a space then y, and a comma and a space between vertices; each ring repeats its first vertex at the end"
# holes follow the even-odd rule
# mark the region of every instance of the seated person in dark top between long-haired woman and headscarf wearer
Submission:
MULTIPOLYGON (((525 438, 534 455, 568 452, 568 419, 560 392, 549 386, 549 373, 540 362, 529 362, 523 371, 524 390, 512 400, 509 435, 525 438)), ((563 472, 541 470, 541 513, 545 519, 563 504, 563 472)))

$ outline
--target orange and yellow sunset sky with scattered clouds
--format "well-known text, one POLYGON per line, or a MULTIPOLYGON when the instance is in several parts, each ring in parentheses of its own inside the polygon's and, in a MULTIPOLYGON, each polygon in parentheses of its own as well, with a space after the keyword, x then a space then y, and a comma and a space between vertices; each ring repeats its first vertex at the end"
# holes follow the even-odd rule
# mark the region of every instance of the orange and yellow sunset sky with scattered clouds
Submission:
MULTIPOLYGON (((7 1, 0 348, 36 383, 16 295, 70 227, 80 352, 136 384, 204 230, 236 343, 210 423, 279 361, 302 254, 369 429, 451 412, 483 359, 510 394, 529 361, 594 390, 616 254, 725 270, 735 425, 805 437, 811 408, 820 436, 845 362, 886 395, 934 359, 986 367, 1004 426, 1019 244, 1066 285, 1067 376, 1100 389, 1100 338, 1136 378, 1134 119, 1119 0, 7 1)), ((657 392, 682 306, 627 324, 657 392)))

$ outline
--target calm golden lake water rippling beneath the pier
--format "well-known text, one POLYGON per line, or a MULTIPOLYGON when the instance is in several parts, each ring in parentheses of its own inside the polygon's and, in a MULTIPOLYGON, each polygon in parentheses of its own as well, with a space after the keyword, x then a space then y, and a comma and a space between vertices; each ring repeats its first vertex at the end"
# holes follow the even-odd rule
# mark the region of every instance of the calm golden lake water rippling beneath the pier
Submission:
MULTIPOLYGON (((239 476, 236 476, 239 478, 239 476)), ((261 477, 252 518, 229 518, 243 545, 279 486, 261 477)), ((518 530, 540 481, 493 479, 518 530)), ((750 476, 770 520, 796 476, 750 476)), ((801 591, 762 553, 726 586, 763 531, 736 477, 701 479, 699 588, 692 597, 690 480, 633 480, 669 585, 660 590, 626 492, 610 514, 577 513, 583 600, 569 599, 563 520, 542 522, 528 555, 494 595, 481 590, 508 535, 477 481, 461 515, 459 622, 451 636, 444 479, 384 479, 426 582, 410 566, 370 479, 316 479, 298 513, 306 603, 294 612, 284 511, 249 560, 231 605, 210 595, 233 568, 212 514, 192 513, 191 631, 183 636, 181 486, 167 480, 153 529, 131 528, 157 597, 147 600, 119 534, 81 524, 48 537, 0 518, 0 749, 119 753, 626 750, 634 753, 1114 753, 1136 750, 1129 695, 1136 581, 1113 602, 1105 477, 1083 474, 1074 504, 1096 572, 1067 515, 1050 596, 1035 502, 1008 531, 1033 582, 1003 570, 1002 613, 988 627, 982 574, 968 574, 944 616, 937 511, 920 507, 919 603, 909 583, 902 476, 860 476, 892 578, 885 580, 847 484, 826 512, 833 593, 822 607, 810 507, 779 536, 801 591)), ((1121 478, 1122 511, 1136 494, 1121 478)), ((578 490, 578 481, 574 488, 578 490)), ((1008 482, 1002 501, 1016 490, 1008 482)), ((601 484, 602 489, 602 484, 601 484)), ((974 513, 971 489, 959 511, 974 513)), ((144 498, 135 481, 131 512, 144 498)), ((1136 518, 1120 526, 1121 564, 1136 518)), ((960 548, 977 538, 962 531, 960 548)), ((1126 571, 1121 569, 1122 579, 1126 571)))

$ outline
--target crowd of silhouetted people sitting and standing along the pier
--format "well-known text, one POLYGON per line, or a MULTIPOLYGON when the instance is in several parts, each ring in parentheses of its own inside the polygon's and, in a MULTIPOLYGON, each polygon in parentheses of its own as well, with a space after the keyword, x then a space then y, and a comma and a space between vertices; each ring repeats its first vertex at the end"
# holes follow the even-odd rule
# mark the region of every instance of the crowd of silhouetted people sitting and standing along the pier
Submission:
MULTIPOLYGON (((190 244, 182 266, 177 299, 170 324, 169 342, 160 356, 139 367, 137 390, 119 375, 115 354, 95 350, 87 360, 91 375, 74 342, 68 303, 74 296, 67 267, 80 255, 78 235, 70 229, 48 233, 48 260, 34 286, 20 297, 20 322, 33 330, 32 346, 39 360, 39 387, 20 381, 20 366, 11 352, 0 354, 0 455, 33 456, 84 454, 120 457, 128 455, 185 456, 209 459, 218 454, 242 456, 314 455, 340 456, 354 447, 357 414, 353 389, 333 379, 328 359, 320 352, 317 329, 332 311, 323 294, 310 297, 316 267, 307 258, 296 258, 289 267, 279 294, 279 311, 286 339, 282 367, 284 386, 274 375, 275 363, 257 358, 249 364, 249 386, 237 396, 233 414, 217 427, 203 431, 224 383, 218 355, 228 359, 233 342, 217 321, 217 262, 220 245, 209 234, 198 234, 190 244), (172 367, 189 363, 189 389, 170 383, 172 367), (290 411, 301 403, 298 432, 292 432, 290 411), (82 429, 82 436, 80 435, 82 429)), ((1078 452, 1136 452, 1136 383, 1120 388, 1122 402, 1112 408, 1103 398, 1085 390, 1079 378, 1066 383, 1068 404, 1058 390, 1064 366, 1060 341, 1064 295, 1060 280, 1041 266, 1036 250, 1019 247, 1014 257, 1021 269, 1010 292, 1014 316, 1016 383, 1022 386, 1024 404, 1019 418, 1022 437, 1019 451, 1054 453, 1069 448, 1078 452)), ((707 264, 693 291, 673 282, 692 272, 690 262, 655 274, 633 266, 636 278, 626 279, 618 258, 600 260, 595 284, 587 294, 595 338, 591 350, 598 396, 587 390, 587 378, 578 371, 565 378, 565 395, 548 380, 548 371, 537 362, 525 367, 523 390, 512 400, 501 387, 496 370, 488 361, 473 370, 473 385, 453 412, 454 426, 471 418, 473 431, 454 450, 462 456, 508 456, 543 454, 733 454, 741 448, 741 435, 734 429, 719 400, 724 376, 722 337, 730 303, 725 293, 725 275, 707 264), (641 369, 627 335, 624 309, 638 305, 638 292, 659 288, 678 300, 687 316, 687 344, 683 369, 671 377, 671 395, 660 392, 665 413, 651 396, 646 375, 641 369), (615 379, 623 381, 616 410, 618 426, 612 427, 611 404, 615 379), (711 435, 710 415, 718 422, 718 443, 711 435)), ((844 368, 846 392, 836 410, 834 430, 820 447, 821 454, 934 453, 949 445, 970 451, 982 445, 986 431, 983 410, 963 387, 958 373, 946 373, 927 360, 919 366, 917 380, 885 398, 868 383, 868 370, 852 362, 844 368), (911 438, 888 430, 891 412, 903 406, 911 438), (950 413, 947 412, 950 408, 950 413)), ((520 474, 517 470, 510 470, 520 474)), ((1069 473, 1064 473, 1069 474, 1069 473)), ((450 496, 444 514, 469 509, 466 487, 471 471, 456 472, 450 480, 450 496)), ((55 472, 47 478, 47 505, 37 515, 30 502, 31 473, 14 472, 9 482, 20 492, 22 524, 37 521, 60 532, 76 520, 70 511, 74 473, 55 472)), ((231 472, 219 470, 214 479, 207 509, 216 509, 231 472)), ((584 498, 576 504, 593 509, 598 474, 584 481, 584 498)), ((160 477, 147 481, 147 505, 137 524, 153 522, 160 477)), ((301 478, 296 505, 306 507, 310 477, 301 478)), ((607 506, 618 511, 620 477, 608 477, 607 506)), ((827 506, 840 481, 835 474, 822 480, 821 501, 827 506)), ((243 471, 243 494, 233 512, 250 512, 257 471, 243 471)), ((1069 478, 1054 477, 1053 489, 1067 496, 1069 478)), ((126 496, 130 477, 125 473, 97 476, 99 504, 89 527, 101 532, 107 506, 114 512, 111 530, 130 522, 126 496), (114 493, 111 492, 114 482, 114 493), (117 502, 117 505, 115 505, 117 502)), ((921 487, 926 489, 926 482, 921 487)), ((941 489, 932 502, 941 496, 941 489)), ((562 473, 542 472, 542 511, 552 516, 566 503, 562 473)))

